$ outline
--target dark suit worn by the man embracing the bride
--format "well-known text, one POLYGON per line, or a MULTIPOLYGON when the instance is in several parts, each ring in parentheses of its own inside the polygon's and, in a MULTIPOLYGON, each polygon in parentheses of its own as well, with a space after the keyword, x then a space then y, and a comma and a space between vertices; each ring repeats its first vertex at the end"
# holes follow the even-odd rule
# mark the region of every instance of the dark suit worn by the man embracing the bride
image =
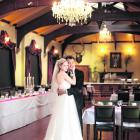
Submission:
POLYGON ((74 95, 77 111, 79 115, 79 120, 82 129, 82 108, 84 107, 83 101, 83 83, 84 83, 84 73, 78 69, 75 69, 76 76, 76 85, 72 85, 70 89, 68 89, 69 95, 74 95))

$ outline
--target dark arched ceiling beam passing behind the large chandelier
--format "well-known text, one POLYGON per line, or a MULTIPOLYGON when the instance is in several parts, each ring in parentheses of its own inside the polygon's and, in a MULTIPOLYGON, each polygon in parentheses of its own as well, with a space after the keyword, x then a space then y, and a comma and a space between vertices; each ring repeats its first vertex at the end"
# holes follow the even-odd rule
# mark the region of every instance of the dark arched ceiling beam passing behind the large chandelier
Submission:
MULTIPOLYGON (((138 21, 140 20, 140 12, 132 12, 132 13, 124 13, 124 12, 116 12, 116 13, 104 13, 104 12, 93 12, 92 21, 138 21)), ((56 19, 52 16, 52 12, 48 12, 27 24, 24 24, 21 27, 17 28, 17 46, 19 46, 20 41, 30 31, 33 31, 39 27, 57 24, 56 19)), ((70 30, 72 28, 70 27, 70 30)), ((75 29, 73 27, 73 29, 75 29)), ((82 30, 82 28, 81 28, 82 30)))

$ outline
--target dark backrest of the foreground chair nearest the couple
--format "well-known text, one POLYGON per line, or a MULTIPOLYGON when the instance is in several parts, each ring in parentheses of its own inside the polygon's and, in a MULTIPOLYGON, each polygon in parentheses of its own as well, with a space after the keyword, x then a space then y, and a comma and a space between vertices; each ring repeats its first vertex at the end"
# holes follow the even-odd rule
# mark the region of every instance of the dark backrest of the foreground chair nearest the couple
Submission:
POLYGON ((114 106, 95 106, 95 124, 96 122, 115 122, 114 106))

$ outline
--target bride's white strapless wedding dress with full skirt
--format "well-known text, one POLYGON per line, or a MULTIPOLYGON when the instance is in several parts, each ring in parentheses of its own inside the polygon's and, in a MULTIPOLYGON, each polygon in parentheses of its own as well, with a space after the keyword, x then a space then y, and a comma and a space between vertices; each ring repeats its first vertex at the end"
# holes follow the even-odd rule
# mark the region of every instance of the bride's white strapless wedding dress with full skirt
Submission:
MULTIPOLYGON (((69 88, 67 81, 59 85, 59 89, 69 88)), ((73 95, 57 96, 44 140, 83 140, 73 95)))

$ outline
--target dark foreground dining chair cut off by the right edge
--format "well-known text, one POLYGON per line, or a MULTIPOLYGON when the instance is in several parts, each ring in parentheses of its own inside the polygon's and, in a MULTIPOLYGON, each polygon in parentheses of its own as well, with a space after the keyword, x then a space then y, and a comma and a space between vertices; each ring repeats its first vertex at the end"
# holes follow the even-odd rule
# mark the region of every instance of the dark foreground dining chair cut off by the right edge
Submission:
POLYGON ((121 107, 121 140, 129 140, 129 132, 140 130, 140 109, 139 106, 121 107), (126 132, 126 133, 125 133, 126 132))

